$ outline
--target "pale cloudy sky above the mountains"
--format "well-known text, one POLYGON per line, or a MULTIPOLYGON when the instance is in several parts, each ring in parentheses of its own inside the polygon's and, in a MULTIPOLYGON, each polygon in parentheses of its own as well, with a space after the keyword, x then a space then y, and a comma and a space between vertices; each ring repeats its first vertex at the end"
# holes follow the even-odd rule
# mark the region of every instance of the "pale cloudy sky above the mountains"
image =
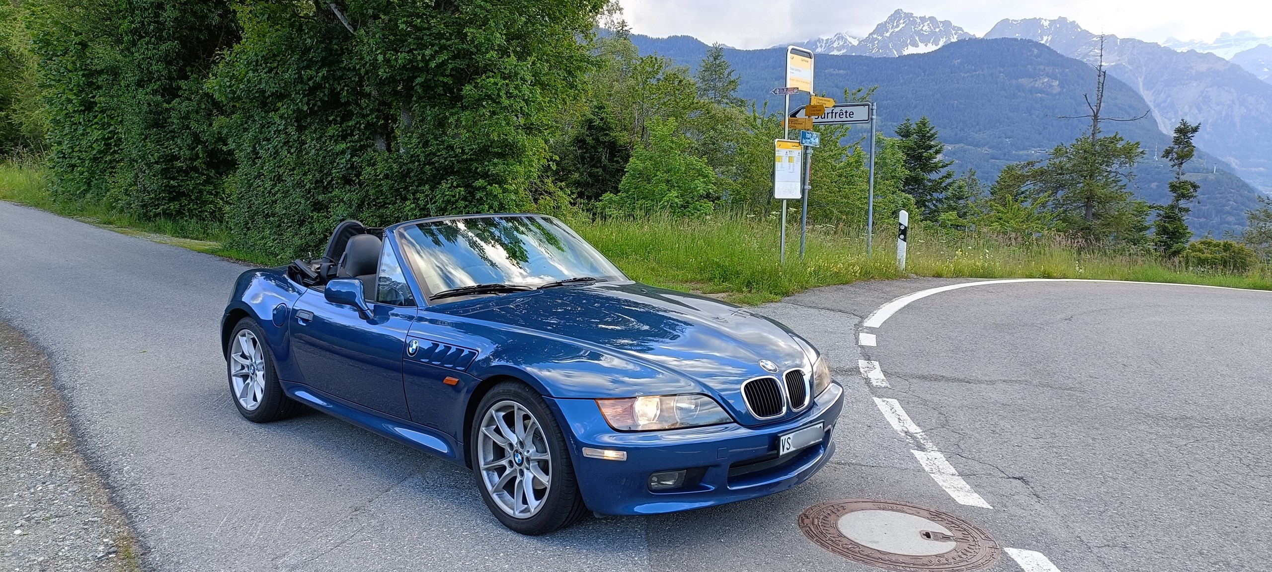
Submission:
POLYGON ((1222 32, 1272 36, 1269 0, 619 0, 636 33, 693 36, 738 48, 762 48, 836 32, 866 36, 901 8, 950 20, 983 36, 1004 18, 1076 20, 1094 33, 1161 42, 1212 41, 1222 32))

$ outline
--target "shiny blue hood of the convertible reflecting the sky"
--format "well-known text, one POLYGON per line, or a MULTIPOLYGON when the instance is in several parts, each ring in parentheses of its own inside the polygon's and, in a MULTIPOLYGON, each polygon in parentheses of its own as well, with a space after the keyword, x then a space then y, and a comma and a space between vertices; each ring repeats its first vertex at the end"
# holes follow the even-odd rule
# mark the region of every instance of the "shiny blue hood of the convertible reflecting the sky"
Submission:
MULTIPOLYGON (((586 364, 577 364, 577 356, 571 356, 541 364, 538 369, 604 374, 603 383, 608 386, 599 397, 715 394, 731 405, 739 421, 749 417, 740 395, 742 383, 773 375, 761 367, 761 360, 775 362, 778 378, 790 369, 809 369, 806 342, 801 344, 784 325, 711 297, 637 282, 482 296, 432 310, 541 332, 588 347, 586 353, 594 357, 584 360, 586 364), (608 372, 597 367, 605 365, 607 356, 611 362, 619 358, 608 372), (642 366, 641 371, 632 370, 632 362, 642 366), (654 375, 645 370, 653 370, 654 375)), ((574 389, 581 390, 579 397, 598 397, 584 384, 574 389)))

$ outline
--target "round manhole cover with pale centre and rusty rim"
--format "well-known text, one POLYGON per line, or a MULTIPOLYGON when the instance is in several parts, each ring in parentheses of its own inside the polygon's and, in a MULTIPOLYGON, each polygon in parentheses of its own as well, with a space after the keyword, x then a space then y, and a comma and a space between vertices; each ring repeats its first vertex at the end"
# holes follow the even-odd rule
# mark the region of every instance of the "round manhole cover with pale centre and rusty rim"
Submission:
POLYGON ((898 572, 969 572, 993 564, 1002 552, 979 526, 903 502, 822 502, 799 515, 799 526, 827 550, 898 572))

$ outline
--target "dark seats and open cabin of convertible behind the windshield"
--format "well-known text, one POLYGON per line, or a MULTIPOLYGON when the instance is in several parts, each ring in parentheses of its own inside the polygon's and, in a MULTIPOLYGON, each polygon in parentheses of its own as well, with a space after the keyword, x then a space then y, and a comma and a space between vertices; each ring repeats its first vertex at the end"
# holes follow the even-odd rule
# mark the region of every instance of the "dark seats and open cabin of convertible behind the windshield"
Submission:
POLYGON ((322 258, 293 261, 287 266, 287 276, 319 290, 332 278, 357 278, 363 281, 366 296, 374 296, 383 238, 384 229, 368 228, 356 220, 346 220, 336 225, 322 258))

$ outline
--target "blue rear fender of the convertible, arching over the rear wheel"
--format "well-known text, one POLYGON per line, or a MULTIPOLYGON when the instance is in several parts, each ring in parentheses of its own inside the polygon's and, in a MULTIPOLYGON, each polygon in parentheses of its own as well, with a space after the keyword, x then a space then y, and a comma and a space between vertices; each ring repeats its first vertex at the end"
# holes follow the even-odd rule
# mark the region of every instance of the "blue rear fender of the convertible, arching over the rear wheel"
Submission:
POLYGON ((254 268, 239 275, 234 282, 234 294, 221 315, 221 353, 229 352, 234 325, 243 318, 251 318, 265 333, 265 343, 273 355, 279 378, 303 381, 300 370, 291 358, 287 317, 291 315, 291 305, 305 290, 308 289, 287 278, 285 268, 254 268))

